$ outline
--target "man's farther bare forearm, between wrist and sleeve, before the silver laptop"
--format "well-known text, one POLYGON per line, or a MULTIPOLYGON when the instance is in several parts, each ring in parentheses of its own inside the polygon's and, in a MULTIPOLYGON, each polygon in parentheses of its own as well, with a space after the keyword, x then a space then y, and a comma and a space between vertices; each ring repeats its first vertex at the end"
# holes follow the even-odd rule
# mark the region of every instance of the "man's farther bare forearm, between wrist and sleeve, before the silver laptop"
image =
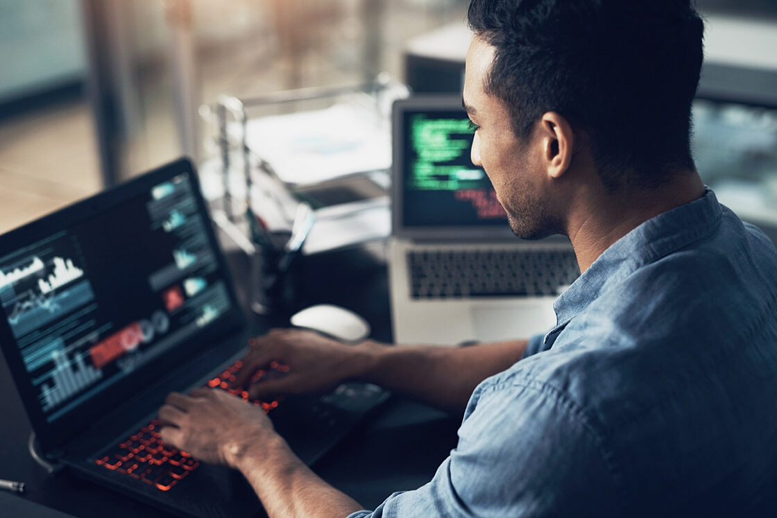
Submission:
POLYGON ((521 359, 527 340, 469 347, 386 346, 367 341, 357 377, 448 412, 462 411, 486 377, 521 359))

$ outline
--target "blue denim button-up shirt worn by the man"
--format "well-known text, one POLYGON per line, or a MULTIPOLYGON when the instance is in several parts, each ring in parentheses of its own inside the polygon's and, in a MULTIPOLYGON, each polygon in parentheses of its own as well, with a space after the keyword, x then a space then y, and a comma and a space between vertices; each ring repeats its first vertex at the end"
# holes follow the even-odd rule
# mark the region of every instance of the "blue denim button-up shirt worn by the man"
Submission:
POLYGON ((777 250, 712 191, 618 240, 364 516, 775 516, 777 250))

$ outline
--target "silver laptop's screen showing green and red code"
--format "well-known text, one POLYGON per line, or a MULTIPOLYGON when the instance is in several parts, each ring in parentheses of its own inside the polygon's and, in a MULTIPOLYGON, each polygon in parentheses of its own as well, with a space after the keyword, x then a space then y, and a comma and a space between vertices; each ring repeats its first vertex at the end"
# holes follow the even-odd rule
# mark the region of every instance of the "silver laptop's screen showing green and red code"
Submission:
POLYGON ((474 134, 461 96, 412 96, 394 103, 393 235, 514 239, 490 179, 472 164, 474 134))

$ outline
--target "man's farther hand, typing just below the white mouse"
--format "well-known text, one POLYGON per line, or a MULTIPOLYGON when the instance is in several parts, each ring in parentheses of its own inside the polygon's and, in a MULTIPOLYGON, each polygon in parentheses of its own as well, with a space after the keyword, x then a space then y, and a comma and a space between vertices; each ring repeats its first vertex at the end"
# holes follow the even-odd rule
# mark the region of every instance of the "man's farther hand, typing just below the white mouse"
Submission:
POLYGON ((252 339, 250 345, 235 381, 248 391, 250 399, 332 391, 344 379, 356 375, 367 357, 365 346, 345 345, 301 329, 274 329, 252 339), (268 370, 273 361, 287 365, 288 374, 252 385, 257 371, 268 370))

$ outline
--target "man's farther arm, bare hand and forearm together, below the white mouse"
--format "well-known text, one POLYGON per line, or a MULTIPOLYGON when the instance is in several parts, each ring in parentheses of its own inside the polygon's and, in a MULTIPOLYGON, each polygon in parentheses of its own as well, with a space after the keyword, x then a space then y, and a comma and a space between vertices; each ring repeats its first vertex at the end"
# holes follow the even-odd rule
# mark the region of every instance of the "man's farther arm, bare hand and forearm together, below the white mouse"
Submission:
POLYGON ((367 339, 350 346, 313 331, 274 329, 250 344, 235 383, 251 399, 325 393, 353 380, 458 413, 463 412, 477 384, 521 359, 528 341, 392 347, 367 339), (287 365, 288 373, 253 383, 254 375, 269 370, 273 361, 287 365))

